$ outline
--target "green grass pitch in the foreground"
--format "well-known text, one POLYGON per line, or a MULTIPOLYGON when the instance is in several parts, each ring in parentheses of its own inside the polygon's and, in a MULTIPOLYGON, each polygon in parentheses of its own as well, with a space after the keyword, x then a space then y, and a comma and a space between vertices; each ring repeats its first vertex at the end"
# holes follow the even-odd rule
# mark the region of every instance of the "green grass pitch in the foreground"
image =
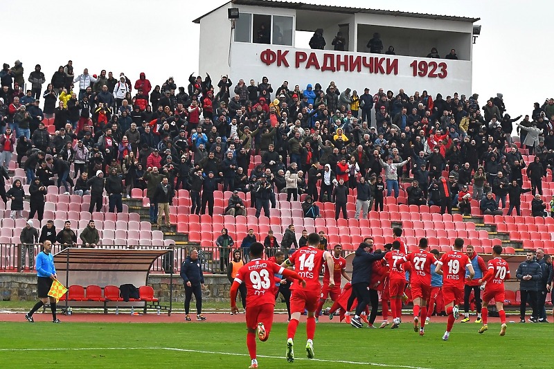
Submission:
MULTIPOLYGON (((309 361, 305 359, 305 324, 301 323, 295 339, 297 359, 290 368, 363 368, 375 363, 384 368, 529 369, 544 368, 553 359, 551 354, 550 359, 529 356, 530 342, 537 346, 552 342, 551 324, 508 323, 504 337, 498 335, 499 323, 490 324, 485 334, 477 333, 480 326, 456 323, 449 341, 444 342, 445 325, 439 323, 427 325, 424 337, 413 332, 411 323, 398 330, 319 324, 314 350, 316 359, 322 361, 309 361)), ((0 323, 0 330, 2 368, 223 369, 250 364, 244 323, 22 322, 0 323)), ((260 368, 289 366, 286 330, 285 323, 277 323, 269 341, 257 342, 260 368)))

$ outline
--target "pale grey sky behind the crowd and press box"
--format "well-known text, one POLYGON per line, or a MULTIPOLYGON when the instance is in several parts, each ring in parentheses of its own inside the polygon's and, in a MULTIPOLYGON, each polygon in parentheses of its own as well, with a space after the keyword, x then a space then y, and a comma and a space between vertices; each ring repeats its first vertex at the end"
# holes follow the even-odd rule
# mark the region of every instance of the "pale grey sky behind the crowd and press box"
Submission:
MULTIPOLYGON (((305 2, 373 5, 364 0, 305 2)), ((0 62, 12 66, 21 60, 25 78, 38 63, 49 81, 57 66, 71 59, 75 73, 84 68, 91 74, 101 69, 114 75, 123 71, 134 82, 144 71, 152 85, 161 85, 172 75, 177 86, 186 87, 188 75, 198 71, 199 26, 192 20, 223 3, 226 1, 20 0, 15 6, 13 1, 1 1, 5 42, 0 62)), ((541 10, 551 8, 549 1, 397 0, 380 2, 379 8, 481 18, 478 24, 483 28, 473 53, 473 92, 479 93, 481 105, 503 93, 508 113, 514 117, 530 114, 533 102, 554 96, 551 73, 547 72, 553 59, 547 34, 552 27, 547 18, 539 18, 541 10)), ((244 79, 251 77, 259 78, 247 75, 244 79)))

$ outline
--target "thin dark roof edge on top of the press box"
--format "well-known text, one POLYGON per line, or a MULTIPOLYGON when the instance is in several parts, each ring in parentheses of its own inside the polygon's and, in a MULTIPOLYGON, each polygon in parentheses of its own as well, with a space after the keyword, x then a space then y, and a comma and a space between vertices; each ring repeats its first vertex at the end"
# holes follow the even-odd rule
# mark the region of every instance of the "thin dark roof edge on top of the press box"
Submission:
POLYGON ((379 10, 379 9, 369 9, 369 8, 350 8, 343 6, 325 6, 324 8, 319 5, 306 4, 306 3, 296 3, 293 1, 277 1, 277 0, 231 0, 224 3, 222 6, 207 12, 206 14, 198 17, 193 20, 193 23, 199 24, 200 20, 206 15, 215 12, 224 6, 229 5, 229 3, 234 3, 237 5, 249 5, 249 6, 265 6, 269 8, 285 8, 285 9, 295 9, 295 10, 312 10, 312 11, 325 11, 325 12, 337 12, 343 14, 375 14, 375 15, 391 15, 393 17, 415 17, 423 19, 442 19, 447 21, 463 21, 469 23, 475 23, 476 21, 481 20, 481 18, 470 18, 470 17, 457 17, 453 15, 435 15, 427 13, 418 13, 418 12, 402 12, 400 10, 379 10))

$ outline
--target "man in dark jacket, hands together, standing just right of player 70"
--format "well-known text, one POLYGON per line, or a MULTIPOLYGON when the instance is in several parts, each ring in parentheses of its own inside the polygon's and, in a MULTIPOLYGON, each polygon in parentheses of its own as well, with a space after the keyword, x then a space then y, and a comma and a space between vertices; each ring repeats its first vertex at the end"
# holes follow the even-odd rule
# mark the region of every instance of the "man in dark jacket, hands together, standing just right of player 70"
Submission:
POLYGON ((533 309, 529 321, 537 323, 537 287, 542 279, 542 271, 539 263, 533 260, 533 253, 528 252, 526 260, 517 267, 516 278, 519 279, 519 292, 521 305, 519 307, 519 323, 525 323, 525 307, 527 302, 533 309))

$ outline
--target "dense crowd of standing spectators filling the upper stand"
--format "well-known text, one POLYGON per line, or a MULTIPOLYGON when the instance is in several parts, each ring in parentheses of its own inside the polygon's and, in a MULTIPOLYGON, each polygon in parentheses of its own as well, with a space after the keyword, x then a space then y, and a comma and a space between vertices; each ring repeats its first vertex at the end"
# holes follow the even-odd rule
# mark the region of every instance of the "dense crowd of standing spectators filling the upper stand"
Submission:
MULTIPOLYGON (((78 74, 71 60, 42 93, 40 65, 28 76, 28 91, 23 71, 19 61, 0 71, 0 165, 7 170, 17 154, 39 219, 36 204, 44 204, 47 186, 91 195, 91 212, 104 196, 109 211, 120 212, 123 196, 146 189, 158 226, 162 215, 168 225, 168 206, 181 188, 190 191, 196 214, 212 215, 213 193, 222 189, 233 192, 225 212, 235 216, 246 210, 238 192, 249 193, 258 217, 262 210, 269 216, 276 194, 285 192, 287 201, 303 201, 305 217, 321 216, 317 201, 332 201, 335 217, 346 218, 351 195, 355 216, 367 217, 383 209, 385 196, 399 196, 405 177, 413 178, 409 205, 470 214, 476 199, 483 214, 500 214, 509 196, 510 213, 519 214, 528 191, 524 169, 539 195, 533 215, 551 210, 541 195, 554 164, 553 99, 520 120, 506 114, 501 93, 481 105, 477 93, 432 98, 426 90, 366 88, 359 95, 334 82, 301 89, 222 75, 215 84, 208 74, 191 74, 186 87, 171 76, 152 87, 145 73, 133 84, 125 73, 78 74), (527 168, 512 139, 514 122, 521 150, 535 154, 527 168), (261 163, 252 168, 257 155, 261 163)), ((9 178, 3 172, 2 180, 9 178)), ((13 181, 3 197, 12 200, 12 217, 21 216, 22 184, 13 181)))

